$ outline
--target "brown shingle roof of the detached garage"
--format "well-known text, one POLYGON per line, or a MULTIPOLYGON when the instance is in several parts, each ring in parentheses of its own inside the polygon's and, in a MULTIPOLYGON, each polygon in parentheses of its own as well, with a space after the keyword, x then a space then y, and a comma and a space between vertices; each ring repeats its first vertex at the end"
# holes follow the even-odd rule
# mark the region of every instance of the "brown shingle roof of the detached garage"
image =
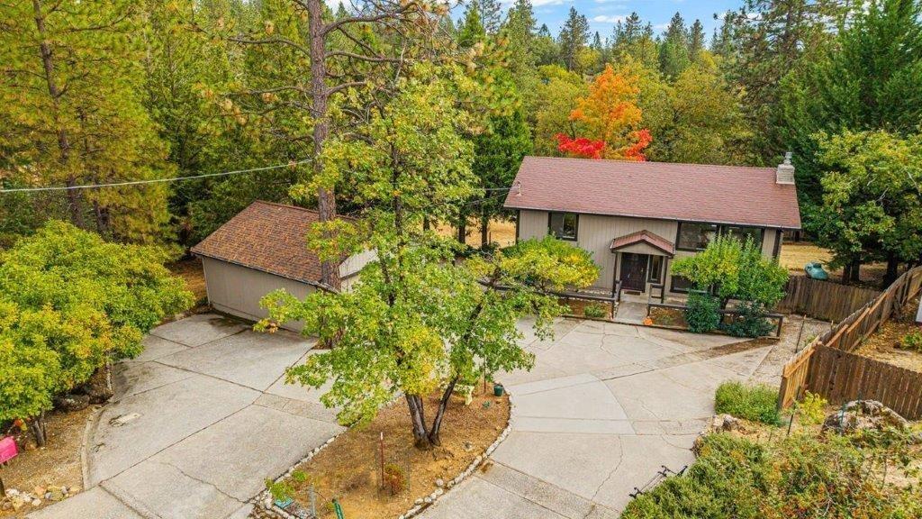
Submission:
POLYGON ((319 221, 317 211, 256 200, 192 247, 192 252, 316 284, 320 259, 307 249, 305 236, 319 221))

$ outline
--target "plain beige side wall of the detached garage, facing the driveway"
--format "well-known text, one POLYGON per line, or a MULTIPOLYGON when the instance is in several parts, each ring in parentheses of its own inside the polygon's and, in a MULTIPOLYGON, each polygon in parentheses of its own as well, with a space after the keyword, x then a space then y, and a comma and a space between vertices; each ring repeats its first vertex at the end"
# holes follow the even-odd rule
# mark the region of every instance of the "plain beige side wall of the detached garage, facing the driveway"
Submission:
MULTIPOLYGON (((213 308, 245 320, 261 320, 267 312, 259 307, 259 300, 273 290, 284 288, 299 299, 313 292, 310 284, 304 284, 267 272, 247 269, 226 261, 202 258, 205 268, 205 283, 208 302, 213 308)), ((300 322, 290 322, 283 328, 301 332, 300 322)))

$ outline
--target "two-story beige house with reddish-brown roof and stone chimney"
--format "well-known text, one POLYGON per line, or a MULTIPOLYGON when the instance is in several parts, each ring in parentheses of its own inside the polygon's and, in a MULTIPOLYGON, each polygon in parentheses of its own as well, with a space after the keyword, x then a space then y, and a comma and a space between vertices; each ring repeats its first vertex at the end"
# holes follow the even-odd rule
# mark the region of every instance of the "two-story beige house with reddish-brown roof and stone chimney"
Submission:
POLYGON ((800 228, 794 166, 777 168, 526 157, 505 199, 516 240, 556 235, 593 253, 599 291, 688 292, 669 273, 716 235, 751 238, 778 258, 800 228))

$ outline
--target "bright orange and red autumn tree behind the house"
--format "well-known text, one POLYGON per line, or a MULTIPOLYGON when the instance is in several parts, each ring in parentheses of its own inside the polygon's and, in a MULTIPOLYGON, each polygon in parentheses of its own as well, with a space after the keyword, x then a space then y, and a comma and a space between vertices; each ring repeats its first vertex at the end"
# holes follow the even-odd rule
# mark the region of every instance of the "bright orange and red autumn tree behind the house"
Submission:
POLYGON ((644 149, 653 137, 640 127, 639 82, 640 78, 627 69, 615 72, 612 66, 605 66, 589 88, 589 95, 577 100, 570 114, 584 135, 557 134, 558 149, 590 159, 645 161, 644 149))

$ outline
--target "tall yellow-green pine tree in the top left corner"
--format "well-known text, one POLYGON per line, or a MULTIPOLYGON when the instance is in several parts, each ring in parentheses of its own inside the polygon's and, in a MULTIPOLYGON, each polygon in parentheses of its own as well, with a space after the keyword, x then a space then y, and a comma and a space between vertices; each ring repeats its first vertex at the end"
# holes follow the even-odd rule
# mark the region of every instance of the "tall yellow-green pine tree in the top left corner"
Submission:
MULTIPOLYGON (((68 186, 173 174, 143 105, 136 2, 66 0, 0 6, 0 122, 19 185, 68 186)), ((167 187, 71 189, 77 226, 132 242, 167 238, 167 187), (92 222, 92 224, 90 223, 92 222)), ((43 216, 60 217, 53 210, 43 216)))

